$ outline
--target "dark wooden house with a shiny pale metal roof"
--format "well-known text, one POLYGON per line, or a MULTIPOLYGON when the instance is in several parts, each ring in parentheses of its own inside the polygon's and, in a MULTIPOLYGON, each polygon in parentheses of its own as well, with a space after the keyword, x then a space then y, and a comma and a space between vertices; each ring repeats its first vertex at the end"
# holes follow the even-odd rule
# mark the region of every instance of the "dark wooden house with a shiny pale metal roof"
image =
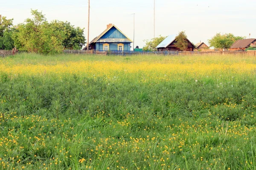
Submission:
MULTIPOLYGON (((184 51, 194 51, 195 45, 186 39, 188 47, 184 51)), ((181 51, 176 45, 176 35, 169 35, 159 45, 157 45, 157 51, 181 51)))

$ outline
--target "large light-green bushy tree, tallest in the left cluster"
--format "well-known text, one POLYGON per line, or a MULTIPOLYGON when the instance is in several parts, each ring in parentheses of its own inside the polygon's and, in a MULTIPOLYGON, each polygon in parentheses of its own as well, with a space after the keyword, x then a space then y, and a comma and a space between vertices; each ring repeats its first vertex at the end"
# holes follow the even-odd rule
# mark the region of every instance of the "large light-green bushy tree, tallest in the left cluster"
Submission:
POLYGON ((55 29, 37 10, 31 10, 32 19, 19 24, 13 35, 17 48, 21 51, 41 54, 54 54, 63 49, 65 35, 63 30, 55 29))

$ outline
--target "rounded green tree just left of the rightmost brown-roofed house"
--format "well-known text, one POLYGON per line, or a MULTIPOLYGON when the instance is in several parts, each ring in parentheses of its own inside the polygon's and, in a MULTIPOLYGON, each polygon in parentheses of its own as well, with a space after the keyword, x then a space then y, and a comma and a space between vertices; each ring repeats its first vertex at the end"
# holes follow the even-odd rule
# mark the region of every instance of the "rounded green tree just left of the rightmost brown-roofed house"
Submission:
POLYGON ((217 33, 212 39, 208 40, 210 47, 214 48, 221 48, 221 49, 227 49, 230 48, 231 45, 236 40, 242 40, 245 37, 241 36, 234 36, 233 34, 221 34, 217 33))

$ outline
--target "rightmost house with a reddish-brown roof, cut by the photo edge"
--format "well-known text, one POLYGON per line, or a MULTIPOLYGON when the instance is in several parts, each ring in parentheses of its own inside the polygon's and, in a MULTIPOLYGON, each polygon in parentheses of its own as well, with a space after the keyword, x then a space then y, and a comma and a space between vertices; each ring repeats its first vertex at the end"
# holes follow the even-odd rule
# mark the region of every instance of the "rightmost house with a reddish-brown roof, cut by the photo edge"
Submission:
POLYGON ((229 51, 244 51, 246 48, 254 45, 256 45, 255 38, 236 40, 236 42, 234 42, 230 47, 229 51))

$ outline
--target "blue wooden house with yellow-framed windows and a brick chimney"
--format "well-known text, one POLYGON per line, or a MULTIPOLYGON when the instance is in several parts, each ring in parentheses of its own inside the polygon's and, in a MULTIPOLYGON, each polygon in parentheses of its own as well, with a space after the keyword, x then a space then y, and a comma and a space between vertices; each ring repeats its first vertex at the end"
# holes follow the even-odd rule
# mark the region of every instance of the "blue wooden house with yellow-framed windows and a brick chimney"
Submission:
MULTIPOLYGON (((96 51, 130 51, 132 42, 133 41, 115 25, 108 24, 107 29, 89 43, 89 49, 96 51)), ((84 47, 83 50, 86 50, 86 47, 84 47)))

